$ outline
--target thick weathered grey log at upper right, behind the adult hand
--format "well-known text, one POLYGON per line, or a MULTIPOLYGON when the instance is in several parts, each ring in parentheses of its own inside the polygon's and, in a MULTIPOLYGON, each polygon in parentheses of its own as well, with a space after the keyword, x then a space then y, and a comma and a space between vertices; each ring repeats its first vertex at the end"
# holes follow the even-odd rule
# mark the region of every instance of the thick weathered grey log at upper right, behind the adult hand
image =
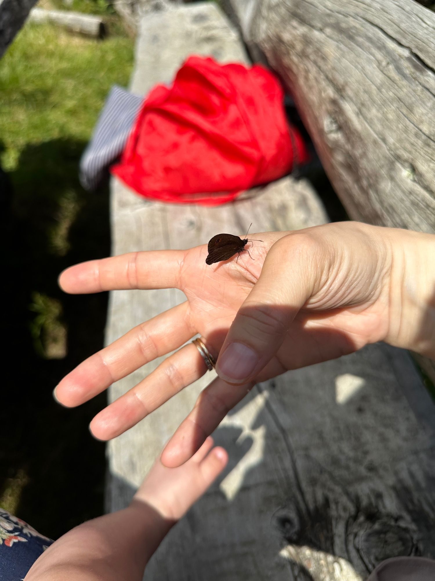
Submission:
POLYGON ((408 0, 230 3, 293 94, 349 216, 435 232, 435 13, 408 0))

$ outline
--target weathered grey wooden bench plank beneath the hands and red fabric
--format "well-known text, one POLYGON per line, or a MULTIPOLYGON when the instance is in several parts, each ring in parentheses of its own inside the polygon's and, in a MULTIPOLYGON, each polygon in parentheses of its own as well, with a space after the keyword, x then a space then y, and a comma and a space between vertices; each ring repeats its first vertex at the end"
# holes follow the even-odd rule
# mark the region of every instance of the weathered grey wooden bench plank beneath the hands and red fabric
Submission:
MULTIPOLYGON (((215 56, 220 50, 222 60, 245 59, 225 21, 213 31, 215 6, 152 17, 156 37, 149 16, 137 43, 136 92, 170 81, 190 53, 209 53, 201 24, 215 56)), ((251 221, 256 231, 270 231, 327 220, 307 182, 292 178, 217 208, 146 202, 112 185, 114 254, 189 248, 219 231, 243 234, 251 221)), ((107 342, 183 299, 175 290, 111 293, 107 342)), ((147 578, 357 581, 393 554, 434 556, 435 411, 426 401, 423 421, 401 389, 405 381, 412 393, 426 393, 407 357, 375 345, 256 386, 214 434, 229 451, 229 467, 168 535, 147 578)), ((158 363, 115 383, 110 400, 158 363)), ((128 503, 212 377, 108 444, 108 510, 128 503)))

